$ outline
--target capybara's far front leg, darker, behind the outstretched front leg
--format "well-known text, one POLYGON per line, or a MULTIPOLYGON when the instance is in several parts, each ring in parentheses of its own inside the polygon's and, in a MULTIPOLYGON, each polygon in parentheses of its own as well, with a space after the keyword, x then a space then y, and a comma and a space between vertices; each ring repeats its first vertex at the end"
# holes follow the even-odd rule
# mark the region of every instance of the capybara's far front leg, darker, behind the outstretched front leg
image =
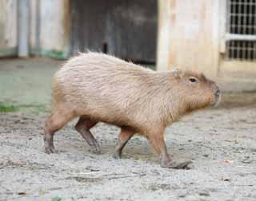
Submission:
POLYGON ((132 136, 134 136, 134 130, 132 128, 122 127, 118 136, 118 145, 114 151, 114 158, 121 158, 122 149, 126 146, 127 142, 132 136))

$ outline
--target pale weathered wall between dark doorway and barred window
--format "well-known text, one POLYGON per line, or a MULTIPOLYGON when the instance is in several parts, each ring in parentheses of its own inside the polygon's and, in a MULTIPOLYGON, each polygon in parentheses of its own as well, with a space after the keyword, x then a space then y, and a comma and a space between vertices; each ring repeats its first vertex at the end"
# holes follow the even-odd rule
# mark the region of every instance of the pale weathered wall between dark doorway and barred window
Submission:
POLYGON ((158 1, 158 69, 218 74, 218 0, 158 1))

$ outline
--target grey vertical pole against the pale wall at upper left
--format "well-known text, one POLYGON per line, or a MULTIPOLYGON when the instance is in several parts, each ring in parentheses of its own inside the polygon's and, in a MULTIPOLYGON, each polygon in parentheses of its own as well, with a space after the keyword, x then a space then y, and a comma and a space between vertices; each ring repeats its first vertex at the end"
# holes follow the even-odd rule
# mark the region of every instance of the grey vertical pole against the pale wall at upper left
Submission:
POLYGON ((18 57, 29 56, 29 1, 18 1, 18 57))

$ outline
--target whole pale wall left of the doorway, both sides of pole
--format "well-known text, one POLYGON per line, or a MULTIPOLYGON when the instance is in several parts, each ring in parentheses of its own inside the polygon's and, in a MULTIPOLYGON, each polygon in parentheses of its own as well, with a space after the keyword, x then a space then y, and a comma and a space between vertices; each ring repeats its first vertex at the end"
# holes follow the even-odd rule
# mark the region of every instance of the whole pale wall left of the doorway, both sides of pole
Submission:
POLYGON ((70 49, 69 2, 70 0, 29 0, 29 9, 24 13, 20 9, 24 3, 22 0, 1 0, 0 57, 20 56, 17 50, 29 43, 29 54, 66 58, 70 49), (28 18, 23 18, 24 14, 28 18), (28 29, 24 28, 25 24, 28 29), (26 37, 29 37, 28 41, 25 40, 26 37))

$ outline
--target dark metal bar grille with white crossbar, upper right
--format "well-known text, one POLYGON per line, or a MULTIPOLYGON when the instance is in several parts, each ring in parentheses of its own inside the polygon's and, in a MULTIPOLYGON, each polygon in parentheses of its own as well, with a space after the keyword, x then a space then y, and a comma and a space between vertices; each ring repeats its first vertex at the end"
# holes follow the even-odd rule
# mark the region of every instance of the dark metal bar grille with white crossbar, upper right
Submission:
POLYGON ((256 0, 227 0, 226 59, 256 61, 256 0))

